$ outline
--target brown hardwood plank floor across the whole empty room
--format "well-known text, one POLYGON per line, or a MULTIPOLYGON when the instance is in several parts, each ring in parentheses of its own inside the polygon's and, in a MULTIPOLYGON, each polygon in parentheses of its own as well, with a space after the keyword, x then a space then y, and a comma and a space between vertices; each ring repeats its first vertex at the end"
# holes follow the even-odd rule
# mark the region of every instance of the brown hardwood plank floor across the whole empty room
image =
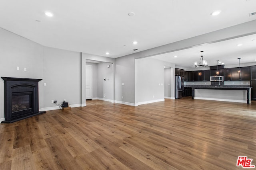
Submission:
POLYGON ((0 124, 0 169, 221 170, 256 165, 256 102, 100 100, 0 124))

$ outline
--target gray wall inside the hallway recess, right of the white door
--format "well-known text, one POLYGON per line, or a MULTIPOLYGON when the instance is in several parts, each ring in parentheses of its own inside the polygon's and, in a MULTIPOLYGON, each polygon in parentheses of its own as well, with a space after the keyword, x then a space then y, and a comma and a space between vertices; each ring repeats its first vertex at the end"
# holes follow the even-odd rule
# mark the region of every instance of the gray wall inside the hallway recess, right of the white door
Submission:
POLYGON ((98 63, 98 98, 114 100, 113 64, 98 63), (108 68, 107 65, 110 65, 108 68), (106 79, 106 81, 104 81, 106 79))

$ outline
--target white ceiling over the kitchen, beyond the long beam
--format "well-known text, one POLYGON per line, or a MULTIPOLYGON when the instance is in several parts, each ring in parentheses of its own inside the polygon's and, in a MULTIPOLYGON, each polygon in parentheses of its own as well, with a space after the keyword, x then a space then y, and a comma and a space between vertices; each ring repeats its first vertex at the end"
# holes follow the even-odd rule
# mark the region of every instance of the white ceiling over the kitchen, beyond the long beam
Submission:
POLYGON ((238 66, 238 58, 241 58, 240 63, 256 62, 256 34, 156 55, 151 58, 175 63, 176 68, 195 68, 194 62, 199 63, 200 51, 204 51, 203 56, 208 66, 217 65, 217 60, 225 65, 237 64, 238 66), (238 46, 238 44, 242 45, 238 46))

